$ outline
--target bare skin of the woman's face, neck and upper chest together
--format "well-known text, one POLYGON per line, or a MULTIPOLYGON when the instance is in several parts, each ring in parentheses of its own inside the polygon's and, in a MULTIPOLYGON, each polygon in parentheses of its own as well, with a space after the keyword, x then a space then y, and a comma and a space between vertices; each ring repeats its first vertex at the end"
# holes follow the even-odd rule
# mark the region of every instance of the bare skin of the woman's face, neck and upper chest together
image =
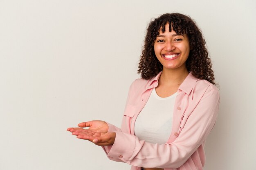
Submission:
MULTIPOLYGON (((160 28, 161 30, 161 28, 160 28)), ((180 84, 189 74, 186 68, 186 60, 189 57, 189 39, 186 35, 177 35, 175 31, 169 32, 169 24, 165 26, 165 32, 159 32, 154 44, 155 55, 163 65, 163 71, 156 87, 157 95, 168 97, 177 92, 180 84), (177 55, 171 59, 165 55, 177 55)))

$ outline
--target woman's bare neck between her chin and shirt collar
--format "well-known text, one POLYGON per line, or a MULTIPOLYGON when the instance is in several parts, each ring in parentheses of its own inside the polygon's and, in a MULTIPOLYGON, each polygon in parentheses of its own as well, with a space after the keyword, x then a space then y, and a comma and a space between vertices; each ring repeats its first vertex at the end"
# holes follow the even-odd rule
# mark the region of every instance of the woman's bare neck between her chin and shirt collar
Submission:
POLYGON ((189 75, 189 71, 184 68, 180 69, 165 69, 163 68, 163 72, 159 77, 159 84, 166 85, 180 85, 184 79, 189 75))

